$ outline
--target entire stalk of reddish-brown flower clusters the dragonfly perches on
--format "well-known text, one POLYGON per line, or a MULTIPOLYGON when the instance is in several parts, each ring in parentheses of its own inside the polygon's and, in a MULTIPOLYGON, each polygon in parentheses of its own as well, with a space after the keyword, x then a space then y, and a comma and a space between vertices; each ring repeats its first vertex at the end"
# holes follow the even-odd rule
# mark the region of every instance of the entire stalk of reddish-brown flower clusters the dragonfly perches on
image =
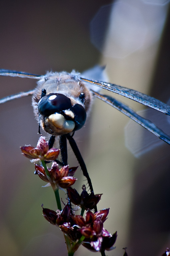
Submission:
POLYGON ((77 180, 73 175, 78 167, 69 168, 68 165, 65 165, 59 168, 56 159, 60 150, 49 149, 48 142, 42 136, 39 138, 36 148, 25 146, 21 147, 21 151, 25 157, 32 159, 32 162, 41 161, 41 165, 35 164, 34 173, 52 186, 58 207, 57 211, 53 211, 43 208, 42 205, 43 216, 49 223, 58 226, 63 232, 68 255, 73 255, 81 244, 89 250, 101 252, 102 255, 105 255, 105 250, 114 249, 117 232, 111 235, 103 227, 109 209, 97 211, 96 207, 102 194, 94 194, 93 191, 88 193, 85 185, 82 186, 82 192, 79 194, 75 188, 71 187, 77 180), (51 168, 46 166, 46 161, 48 163, 53 161, 51 168), (68 203, 65 205, 62 201, 65 205, 63 210, 59 189, 67 189, 68 203), (75 214, 72 204, 78 206, 78 209, 81 207, 81 215, 75 214), (84 219, 85 210, 87 212, 84 219), (96 210, 95 213, 92 212, 94 210, 96 210))

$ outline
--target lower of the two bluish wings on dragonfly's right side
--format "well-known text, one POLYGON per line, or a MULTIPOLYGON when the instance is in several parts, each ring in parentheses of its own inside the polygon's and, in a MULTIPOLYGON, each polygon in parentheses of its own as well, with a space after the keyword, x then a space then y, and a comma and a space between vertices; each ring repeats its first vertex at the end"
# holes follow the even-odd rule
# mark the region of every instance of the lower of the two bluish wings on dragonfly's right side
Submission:
POLYGON ((116 108, 129 118, 131 118, 136 123, 143 126, 145 129, 156 135, 158 138, 163 140, 164 142, 170 144, 170 136, 168 136, 166 133, 164 133, 161 129, 159 129, 154 123, 152 123, 150 120, 145 119, 138 115, 136 112, 134 112, 132 109, 130 109, 128 106, 124 105, 120 101, 115 100, 114 98, 108 96, 108 95, 102 95, 98 92, 95 92, 91 90, 93 95, 97 97, 100 100, 103 100, 104 102, 108 103, 112 107, 116 108))

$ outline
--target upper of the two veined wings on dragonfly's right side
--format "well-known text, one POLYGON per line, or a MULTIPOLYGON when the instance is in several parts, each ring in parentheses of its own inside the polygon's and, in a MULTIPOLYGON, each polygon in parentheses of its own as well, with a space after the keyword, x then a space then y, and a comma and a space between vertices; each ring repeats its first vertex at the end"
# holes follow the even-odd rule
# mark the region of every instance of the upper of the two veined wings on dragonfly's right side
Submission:
POLYGON ((167 104, 165 104, 153 97, 143 94, 141 92, 138 92, 138 91, 135 91, 132 89, 128 89, 126 87, 122 87, 122 86, 119 86, 116 84, 110 84, 110 83, 105 83, 105 82, 100 82, 100 81, 93 81, 93 80, 85 79, 82 77, 80 77, 80 80, 85 81, 90 84, 94 84, 94 85, 99 86, 100 88, 106 89, 108 91, 118 93, 126 98, 137 101, 145 106, 154 108, 160 112, 170 115, 170 106, 168 106, 167 104))

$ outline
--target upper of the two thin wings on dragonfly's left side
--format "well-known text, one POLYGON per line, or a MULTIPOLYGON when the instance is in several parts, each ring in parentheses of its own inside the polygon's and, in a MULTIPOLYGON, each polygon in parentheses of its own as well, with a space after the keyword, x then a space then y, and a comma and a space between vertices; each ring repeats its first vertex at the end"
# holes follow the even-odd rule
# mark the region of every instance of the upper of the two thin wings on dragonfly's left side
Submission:
POLYGON ((13 76, 13 77, 26 77, 26 78, 34 78, 34 79, 40 79, 41 76, 39 75, 33 75, 26 72, 20 72, 15 70, 8 70, 8 69, 0 69, 0 76, 13 76))

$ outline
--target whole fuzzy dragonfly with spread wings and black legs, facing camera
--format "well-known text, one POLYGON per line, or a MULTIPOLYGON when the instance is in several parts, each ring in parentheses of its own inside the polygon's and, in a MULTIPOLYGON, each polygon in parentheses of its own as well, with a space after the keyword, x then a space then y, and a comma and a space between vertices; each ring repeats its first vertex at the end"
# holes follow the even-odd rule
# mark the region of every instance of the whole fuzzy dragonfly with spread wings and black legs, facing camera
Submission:
POLYGON ((91 191, 93 191, 92 183, 73 135, 84 126, 93 97, 116 108, 162 141, 170 144, 170 136, 164 133, 153 122, 140 116, 115 98, 99 93, 98 88, 122 95, 166 115, 170 115, 170 106, 151 96, 116 84, 88 79, 83 74, 76 73, 75 71, 71 73, 64 71, 59 73, 47 72, 45 75, 35 75, 0 69, 0 76, 37 80, 37 87, 35 89, 2 98, 0 99, 0 104, 32 95, 32 105, 34 114, 38 120, 39 133, 41 133, 40 129, 42 129, 50 135, 50 148, 54 145, 56 137, 60 137, 61 161, 58 161, 58 163, 61 165, 67 164, 67 141, 69 142, 83 171, 83 175, 87 178, 91 191))

